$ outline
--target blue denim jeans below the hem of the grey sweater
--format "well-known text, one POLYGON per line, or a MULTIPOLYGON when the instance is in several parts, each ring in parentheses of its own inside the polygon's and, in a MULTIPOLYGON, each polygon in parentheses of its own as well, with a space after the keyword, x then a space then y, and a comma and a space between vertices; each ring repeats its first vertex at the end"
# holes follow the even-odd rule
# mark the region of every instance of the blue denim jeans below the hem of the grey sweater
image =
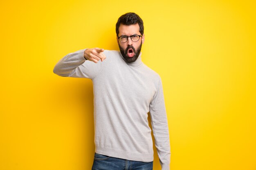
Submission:
POLYGON ((92 170, 153 170, 153 161, 131 161, 95 153, 92 170))

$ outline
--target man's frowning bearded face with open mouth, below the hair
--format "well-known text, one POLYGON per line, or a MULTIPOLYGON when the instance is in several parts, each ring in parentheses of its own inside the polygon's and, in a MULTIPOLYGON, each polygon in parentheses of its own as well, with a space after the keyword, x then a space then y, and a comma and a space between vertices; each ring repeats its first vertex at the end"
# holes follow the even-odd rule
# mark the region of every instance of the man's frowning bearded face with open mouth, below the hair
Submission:
MULTIPOLYGON (((119 26, 119 35, 120 36, 132 36, 132 35, 141 35, 139 33, 139 24, 133 24, 133 25, 123 25, 121 24, 119 26)), ((137 60, 139 57, 139 53, 141 50, 141 46, 144 43, 144 35, 140 37, 139 41, 134 42, 128 38, 128 41, 125 43, 122 43, 117 38, 117 43, 120 49, 120 52, 126 62, 131 63, 137 60)))

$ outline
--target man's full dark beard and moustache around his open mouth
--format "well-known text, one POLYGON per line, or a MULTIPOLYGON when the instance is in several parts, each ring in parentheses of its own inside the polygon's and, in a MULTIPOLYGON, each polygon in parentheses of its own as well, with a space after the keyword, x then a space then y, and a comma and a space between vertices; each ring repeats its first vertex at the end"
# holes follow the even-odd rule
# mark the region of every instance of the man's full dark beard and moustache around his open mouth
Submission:
POLYGON ((121 52, 122 56, 124 57, 124 59, 126 60, 126 62, 127 63, 132 63, 132 62, 136 61, 137 58, 139 57, 141 46, 142 46, 142 41, 141 41, 141 44, 139 45, 139 47, 137 48, 137 50, 135 50, 135 48, 133 46, 128 46, 124 50, 124 48, 122 48, 120 46, 119 41, 118 41, 118 46, 119 46, 120 52, 121 52), (132 50, 134 51, 134 56, 133 57, 128 56, 128 49, 129 48, 132 48, 132 50))

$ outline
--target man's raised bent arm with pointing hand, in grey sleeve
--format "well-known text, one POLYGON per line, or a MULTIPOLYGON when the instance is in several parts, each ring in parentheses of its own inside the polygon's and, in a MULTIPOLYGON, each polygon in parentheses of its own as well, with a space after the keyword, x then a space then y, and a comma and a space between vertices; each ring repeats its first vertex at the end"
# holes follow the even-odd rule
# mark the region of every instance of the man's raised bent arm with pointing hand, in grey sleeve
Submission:
POLYGON ((55 65, 53 72, 59 76, 94 78, 102 69, 102 63, 106 59, 103 49, 87 48, 72 52, 63 57, 55 65))

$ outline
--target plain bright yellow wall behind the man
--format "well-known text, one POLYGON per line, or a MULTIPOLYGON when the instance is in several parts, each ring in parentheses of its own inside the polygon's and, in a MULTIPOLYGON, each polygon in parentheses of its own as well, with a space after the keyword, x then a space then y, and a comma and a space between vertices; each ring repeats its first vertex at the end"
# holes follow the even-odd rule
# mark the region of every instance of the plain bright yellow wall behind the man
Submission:
MULTIPOLYGON (((115 24, 144 21, 142 61, 161 77, 171 170, 256 170, 256 2, 1 1, 0 170, 89 170, 90 79, 54 65, 118 50, 115 24)), ((154 146, 154 170, 160 170, 154 146)))

